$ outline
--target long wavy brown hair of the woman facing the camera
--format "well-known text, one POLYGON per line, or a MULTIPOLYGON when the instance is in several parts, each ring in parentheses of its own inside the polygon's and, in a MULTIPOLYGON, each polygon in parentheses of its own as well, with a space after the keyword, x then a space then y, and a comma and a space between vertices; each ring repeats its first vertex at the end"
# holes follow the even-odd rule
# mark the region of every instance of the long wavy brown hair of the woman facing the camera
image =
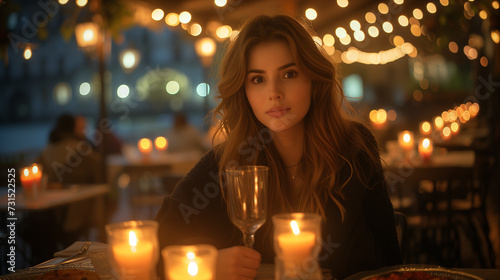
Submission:
MULTIPOLYGON (((325 205, 331 198, 340 209, 342 190, 356 174, 366 186, 367 175, 361 172, 356 157, 360 151, 368 154, 373 166, 378 156, 375 143, 367 141, 356 122, 345 112, 337 69, 328 55, 312 39, 312 32, 295 19, 277 15, 258 16, 241 29, 229 43, 222 60, 218 98, 213 111, 219 119, 217 133, 225 142, 215 151, 219 171, 224 174, 234 165, 262 164, 269 166, 269 215, 292 211, 319 213, 325 217, 325 205), (297 167, 305 187, 297 207, 287 198, 290 183, 285 165, 272 144, 272 132, 260 123, 245 96, 244 80, 250 50, 257 44, 280 40, 290 47, 298 68, 311 79, 311 105, 304 119, 305 141, 302 159, 297 167), (347 168, 349 172, 340 172, 347 168)), ((363 163, 366 166, 366 163, 363 163)), ((223 182, 223 180, 222 180, 223 182)))

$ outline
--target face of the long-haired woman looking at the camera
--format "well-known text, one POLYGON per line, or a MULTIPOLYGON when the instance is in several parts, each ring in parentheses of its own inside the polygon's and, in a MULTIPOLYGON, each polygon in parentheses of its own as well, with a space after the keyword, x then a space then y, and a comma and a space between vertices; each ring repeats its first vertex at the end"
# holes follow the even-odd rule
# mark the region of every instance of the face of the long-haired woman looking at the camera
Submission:
POLYGON ((245 94, 257 119, 273 132, 300 130, 311 105, 311 80, 283 41, 254 46, 248 56, 245 94))

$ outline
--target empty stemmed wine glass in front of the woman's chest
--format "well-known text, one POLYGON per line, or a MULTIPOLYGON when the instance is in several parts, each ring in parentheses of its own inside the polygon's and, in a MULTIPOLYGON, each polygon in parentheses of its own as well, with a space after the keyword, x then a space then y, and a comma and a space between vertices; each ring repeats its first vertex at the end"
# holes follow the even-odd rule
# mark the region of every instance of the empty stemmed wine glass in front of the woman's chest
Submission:
POLYGON ((267 166, 249 165, 226 169, 227 203, 231 222, 243 233, 243 242, 253 247, 254 234, 266 221, 267 166))

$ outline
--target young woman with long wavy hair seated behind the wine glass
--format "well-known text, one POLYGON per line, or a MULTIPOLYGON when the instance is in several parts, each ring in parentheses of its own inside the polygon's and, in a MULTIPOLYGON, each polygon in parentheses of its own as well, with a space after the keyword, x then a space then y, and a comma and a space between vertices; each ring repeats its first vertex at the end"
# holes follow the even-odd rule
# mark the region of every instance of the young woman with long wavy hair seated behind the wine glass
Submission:
POLYGON ((323 217, 322 268, 338 279, 401 261, 377 144, 343 109, 337 70, 300 23, 259 16, 222 61, 214 117, 226 140, 167 197, 157 220, 161 246, 209 243, 218 279, 253 279, 272 263, 271 216, 323 217), (241 247, 219 177, 228 166, 269 166, 267 222, 254 249, 241 247))

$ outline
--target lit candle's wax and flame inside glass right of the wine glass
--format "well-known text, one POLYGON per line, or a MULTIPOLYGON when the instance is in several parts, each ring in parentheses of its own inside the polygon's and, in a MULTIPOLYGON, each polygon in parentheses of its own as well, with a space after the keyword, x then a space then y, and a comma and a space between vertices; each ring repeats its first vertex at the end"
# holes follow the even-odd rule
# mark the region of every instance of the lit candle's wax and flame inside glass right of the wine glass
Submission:
POLYGON ((307 257, 313 255, 316 235, 313 232, 301 232, 295 220, 290 222, 292 232, 278 235, 278 244, 283 252, 285 270, 293 270, 303 265, 307 257))

